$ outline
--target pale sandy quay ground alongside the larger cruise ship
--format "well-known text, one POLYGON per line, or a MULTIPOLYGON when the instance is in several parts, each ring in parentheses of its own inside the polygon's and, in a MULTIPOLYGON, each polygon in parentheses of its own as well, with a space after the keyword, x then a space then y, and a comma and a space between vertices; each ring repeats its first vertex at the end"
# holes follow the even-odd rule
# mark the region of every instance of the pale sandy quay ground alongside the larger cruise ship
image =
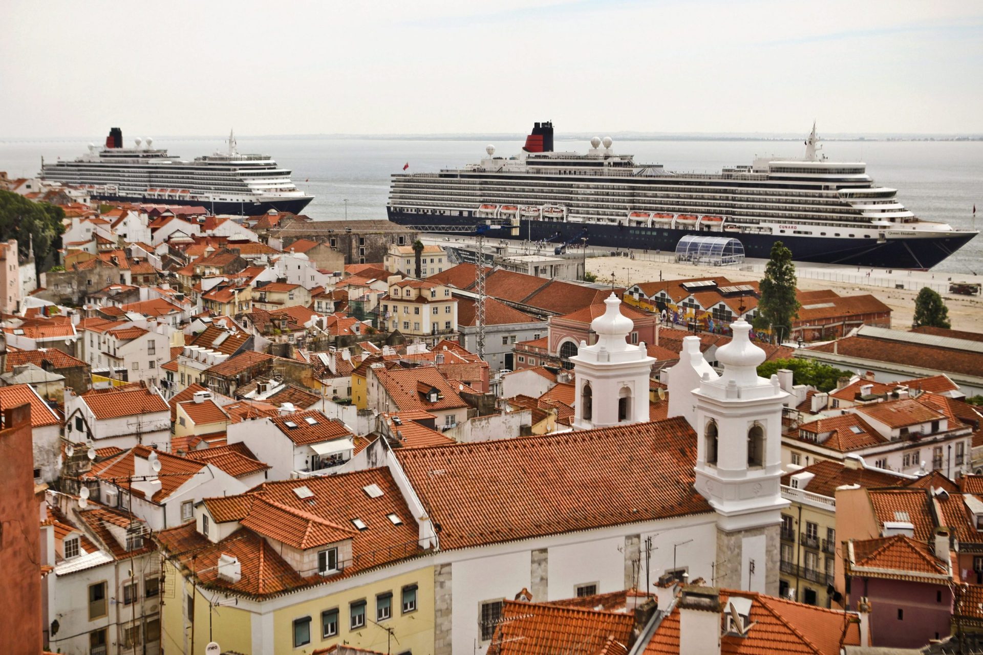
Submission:
MULTIPOLYGON (((588 257, 587 270, 598 276, 598 282, 609 282, 614 273, 614 283, 619 287, 640 282, 663 280, 680 280, 703 276, 723 276, 733 282, 760 280, 764 275, 764 266, 755 263, 746 266, 694 266, 674 261, 650 261, 627 257, 588 257), (751 270, 742 270, 750 268, 751 270), (662 278, 660 278, 662 275, 662 278)), ((856 296, 871 294, 887 304, 892 309, 892 326, 899 330, 911 327, 914 313, 915 296, 920 285, 928 285, 943 291, 948 286, 947 273, 933 274, 931 272, 896 271, 887 273, 883 270, 871 272, 878 284, 862 284, 858 280, 866 279, 869 269, 857 271, 850 267, 801 267, 798 287, 805 291, 832 289, 840 296, 856 296), (839 278, 839 279, 838 279, 839 278), (903 284, 910 289, 891 288, 903 284)), ((981 276, 959 275, 954 280, 979 282, 981 276)), ((983 332, 983 298, 967 297, 944 293, 943 298, 949 307, 949 317, 955 330, 983 332)))

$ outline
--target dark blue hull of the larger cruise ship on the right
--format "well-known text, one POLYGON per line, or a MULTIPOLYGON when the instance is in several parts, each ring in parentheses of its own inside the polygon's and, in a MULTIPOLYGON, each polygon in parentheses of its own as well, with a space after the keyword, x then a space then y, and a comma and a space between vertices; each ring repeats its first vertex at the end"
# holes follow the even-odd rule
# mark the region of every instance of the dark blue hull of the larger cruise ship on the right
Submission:
MULTIPOLYGON (((407 213, 387 207, 389 220, 399 225, 412 226, 474 226, 485 220, 473 216, 431 216, 407 213)), ((434 232, 439 232, 434 229, 434 232)), ((731 237, 744 246, 747 257, 767 259, 772 246, 781 241, 792 251, 796 261, 809 261, 844 266, 877 268, 932 268, 955 250, 965 246, 976 233, 953 233, 951 236, 921 239, 848 239, 828 237, 803 237, 799 235, 763 235, 724 232, 697 232, 695 230, 671 230, 663 227, 631 227, 627 225, 602 225, 597 223, 573 223, 522 219, 519 226, 492 228, 488 236, 496 239, 547 241, 561 244, 581 236, 588 246, 611 248, 635 248, 672 252, 686 235, 731 237)))

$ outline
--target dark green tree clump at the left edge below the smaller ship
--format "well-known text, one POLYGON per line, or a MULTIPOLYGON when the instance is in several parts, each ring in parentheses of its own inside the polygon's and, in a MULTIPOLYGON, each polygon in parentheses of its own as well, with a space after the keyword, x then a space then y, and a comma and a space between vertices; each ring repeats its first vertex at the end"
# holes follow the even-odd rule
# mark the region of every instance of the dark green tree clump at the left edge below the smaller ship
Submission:
POLYGON ((34 246, 38 272, 54 265, 61 235, 65 232, 62 220, 65 211, 47 202, 31 202, 13 191, 0 191, 0 240, 16 239, 23 257, 34 246))

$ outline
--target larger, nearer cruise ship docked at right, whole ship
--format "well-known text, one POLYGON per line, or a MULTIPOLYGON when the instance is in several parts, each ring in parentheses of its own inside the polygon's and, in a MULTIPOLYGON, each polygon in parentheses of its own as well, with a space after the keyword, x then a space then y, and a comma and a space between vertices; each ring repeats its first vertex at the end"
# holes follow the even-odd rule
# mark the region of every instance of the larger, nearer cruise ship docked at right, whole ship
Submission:
POLYGON ((802 158, 718 174, 638 164, 611 145, 595 136, 587 154, 554 152, 552 124, 537 123, 517 155, 496 156, 490 145, 478 164, 394 174, 389 219, 427 232, 493 227, 510 239, 663 251, 716 236, 761 258, 781 241, 798 261, 911 269, 935 266, 979 234, 918 218, 862 162, 829 161, 815 125, 802 158))

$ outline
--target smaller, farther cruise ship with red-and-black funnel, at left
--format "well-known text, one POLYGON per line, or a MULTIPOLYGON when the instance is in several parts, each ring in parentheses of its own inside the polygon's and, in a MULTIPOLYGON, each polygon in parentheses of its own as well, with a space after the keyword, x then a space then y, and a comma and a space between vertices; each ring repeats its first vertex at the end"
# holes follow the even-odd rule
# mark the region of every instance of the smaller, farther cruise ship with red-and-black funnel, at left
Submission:
POLYGON ((212 214, 299 213, 314 199, 269 155, 241 154, 232 133, 225 152, 187 161, 155 149, 152 138, 125 147, 122 131, 113 128, 103 147, 89 143, 78 159, 42 162, 38 177, 84 187, 99 199, 203 206, 212 214))

